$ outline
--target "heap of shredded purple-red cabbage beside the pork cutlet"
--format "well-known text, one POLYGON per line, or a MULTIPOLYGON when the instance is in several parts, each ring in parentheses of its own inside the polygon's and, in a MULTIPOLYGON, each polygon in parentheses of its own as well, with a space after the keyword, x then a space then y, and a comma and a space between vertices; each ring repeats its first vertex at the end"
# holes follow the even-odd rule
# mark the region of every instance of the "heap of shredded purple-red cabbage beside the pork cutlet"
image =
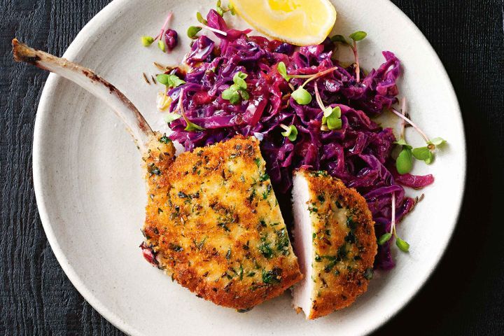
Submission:
MULTIPOLYGON (((370 73, 360 73, 356 82, 356 66, 342 66, 332 57, 335 45, 327 39, 321 45, 299 48, 260 36, 247 36, 250 30, 230 29, 215 10, 207 15, 209 27, 225 31, 216 34, 221 43, 207 36, 194 41, 186 62, 192 70, 184 76, 186 84, 168 92, 178 99, 188 119, 204 127, 201 132, 186 132, 186 122, 175 120, 172 140, 187 151, 230 139, 237 134, 255 135, 261 140, 262 154, 279 198, 286 198, 292 186, 293 169, 309 167, 325 170, 356 188, 365 197, 376 222, 377 237, 391 230, 391 195, 395 193, 396 218, 401 220, 414 207, 414 200, 405 197, 402 186, 423 188, 433 183, 433 176, 399 175, 391 156, 394 134, 370 119, 397 102, 400 61, 392 52, 383 52, 385 62, 370 73), (325 106, 339 106, 342 111, 340 130, 322 131, 323 112, 315 102, 299 105, 290 97, 292 89, 279 74, 276 65, 284 62, 289 74, 313 74, 337 66, 305 86, 314 94, 314 84, 325 106), (238 71, 248 75, 246 83, 250 99, 237 105, 221 97, 233 83, 238 71), (183 89, 183 97, 179 97, 183 89), (295 125, 299 132, 295 141, 283 137, 280 124, 295 125)), ((294 87, 304 79, 290 80, 294 87)), ((391 269, 390 241, 379 246, 375 266, 391 269)))

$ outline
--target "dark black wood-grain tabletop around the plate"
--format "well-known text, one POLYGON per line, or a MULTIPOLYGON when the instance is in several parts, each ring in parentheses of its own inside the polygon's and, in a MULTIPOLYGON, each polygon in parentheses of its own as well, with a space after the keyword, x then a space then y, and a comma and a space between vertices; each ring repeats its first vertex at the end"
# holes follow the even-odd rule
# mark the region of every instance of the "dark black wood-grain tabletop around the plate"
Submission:
MULTIPOLYGON (((468 182, 454 239, 435 274, 377 335, 504 335, 503 0, 393 2, 426 34, 454 83, 468 137, 468 182)), ((45 238, 31 144, 48 75, 14 64, 10 52, 18 36, 62 55, 107 3, 0 1, 1 335, 123 335, 73 288, 45 238)))

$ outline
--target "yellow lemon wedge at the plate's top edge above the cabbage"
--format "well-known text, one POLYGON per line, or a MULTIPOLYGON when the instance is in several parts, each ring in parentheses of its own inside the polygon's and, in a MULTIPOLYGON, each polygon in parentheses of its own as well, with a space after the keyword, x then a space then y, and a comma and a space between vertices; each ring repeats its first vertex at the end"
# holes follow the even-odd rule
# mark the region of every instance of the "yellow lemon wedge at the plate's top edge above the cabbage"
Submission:
POLYGON ((262 34, 294 45, 322 43, 336 22, 329 0, 231 0, 238 15, 262 34))

